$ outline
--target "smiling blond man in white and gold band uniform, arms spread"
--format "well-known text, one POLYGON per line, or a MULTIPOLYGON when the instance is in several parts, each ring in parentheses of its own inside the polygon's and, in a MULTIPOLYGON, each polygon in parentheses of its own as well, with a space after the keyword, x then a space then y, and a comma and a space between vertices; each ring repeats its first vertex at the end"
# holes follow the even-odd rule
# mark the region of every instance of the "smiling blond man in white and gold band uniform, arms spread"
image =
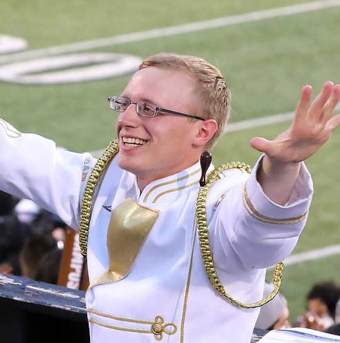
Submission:
POLYGON ((234 299, 253 303, 265 267, 292 252, 312 197, 301 162, 340 125, 340 115, 332 117, 340 85, 326 82, 312 105, 311 93, 303 88, 288 130, 252 139, 264 155, 250 175, 242 165, 222 171, 198 204, 199 157, 230 114, 224 78, 200 58, 143 61, 109 98, 120 151, 110 159, 111 144, 97 164, 1 122, 0 188, 80 227, 91 342, 249 342, 258 309, 220 296, 204 263, 234 299))

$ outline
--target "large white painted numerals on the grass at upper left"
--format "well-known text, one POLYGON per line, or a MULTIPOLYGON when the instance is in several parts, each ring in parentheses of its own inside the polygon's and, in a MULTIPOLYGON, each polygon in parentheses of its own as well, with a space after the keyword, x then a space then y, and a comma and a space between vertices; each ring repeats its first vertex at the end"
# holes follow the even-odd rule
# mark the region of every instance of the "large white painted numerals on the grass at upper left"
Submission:
MULTIPOLYGON (((28 46, 24 39, 0 35, 0 54, 28 46)), ((114 78, 133 73, 142 59, 118 53, 71 53, 0 65, 0 81, 26 85, 51 85, 114 78)))

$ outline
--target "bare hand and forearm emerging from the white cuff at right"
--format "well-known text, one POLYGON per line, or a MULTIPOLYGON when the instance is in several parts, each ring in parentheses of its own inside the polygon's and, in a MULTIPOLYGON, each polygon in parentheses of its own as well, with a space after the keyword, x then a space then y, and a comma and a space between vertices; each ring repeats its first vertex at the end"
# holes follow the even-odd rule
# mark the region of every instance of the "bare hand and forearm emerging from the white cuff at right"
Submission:
POLYGON ((254 149, 265 152, 258 182, 269 199, 279 205, 285 205, 292 195, 301 161, 319 150, 340 125, 340 114, 332 116, 339 102, 340 85, 326 82, 312 104, 311 95, 312 87, 303 87, 292 125, 276 139, 251 140, 254 149))

